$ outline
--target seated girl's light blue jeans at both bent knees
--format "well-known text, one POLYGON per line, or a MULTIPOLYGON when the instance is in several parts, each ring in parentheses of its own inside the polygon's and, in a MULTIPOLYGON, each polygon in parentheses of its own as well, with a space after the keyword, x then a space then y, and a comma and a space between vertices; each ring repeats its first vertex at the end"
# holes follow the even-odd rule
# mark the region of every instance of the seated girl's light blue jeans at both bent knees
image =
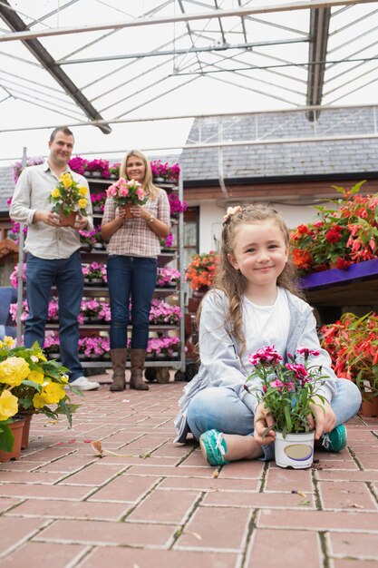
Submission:
MULTIPOLYGON (((337 395, 331 402, 336 426, 353 418, 360 404, 361 394, 354 383, 346 378, 338 379, 337 395)), ((241 436, 252 436, 254 432, 254 415, 235 391, 227 387, 208 387, 199 391, 189 403, 187 422, 197 440, 212 428, 241 436)), ((264 446, 265 459, 270 459, 273 455, 269 455, 267 447, 264 446)))

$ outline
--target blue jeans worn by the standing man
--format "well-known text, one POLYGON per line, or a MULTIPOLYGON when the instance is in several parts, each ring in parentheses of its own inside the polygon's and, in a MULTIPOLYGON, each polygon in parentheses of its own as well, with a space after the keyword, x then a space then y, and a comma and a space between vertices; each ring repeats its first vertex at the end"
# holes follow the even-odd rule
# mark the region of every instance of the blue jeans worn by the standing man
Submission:
POLYGON ((76 250, 68 259, 44 260, 28 252, 26 263, 26 297, 29 316, 24 328, 24 345, 32 347, 34 341, 44 347, 51 289, 56 286, 59 306, 59 339, 61 361, 70 369, 70 382, 82 377, 79 361, 79 324, 83 291, 82 261, 76 250))

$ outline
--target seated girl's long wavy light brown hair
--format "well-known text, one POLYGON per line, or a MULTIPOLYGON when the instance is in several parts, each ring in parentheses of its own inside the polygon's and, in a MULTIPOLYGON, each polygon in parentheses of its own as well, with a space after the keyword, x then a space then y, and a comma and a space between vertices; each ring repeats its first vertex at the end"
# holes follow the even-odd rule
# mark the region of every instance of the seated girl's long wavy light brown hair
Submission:
MULTIPOLYGON (((270 207, 247 205, 242 207, 241 211, 229 216, 223 223, 218 268, 213 288, 223 290, 228 297, 229 308, 225 323, 228 332, 240 342, 242 346, 241 353, 246 345, 246 338, 243 333, 242 298, 247 287, 247 279, 240 270, 234 269, 228 260, 228 255, 234 254, 236 232, 240 225, 253 224, 265 220, 273 221, 276 224, 284 237, 286 247, 289 247, 290 235, 286 223, 279 213, 270 207)), ((286 262, 285 269, 277 278, 277 286, 289 290, 299 298, 304 298, 298 286, 296 267, 290 257, 286 262)))

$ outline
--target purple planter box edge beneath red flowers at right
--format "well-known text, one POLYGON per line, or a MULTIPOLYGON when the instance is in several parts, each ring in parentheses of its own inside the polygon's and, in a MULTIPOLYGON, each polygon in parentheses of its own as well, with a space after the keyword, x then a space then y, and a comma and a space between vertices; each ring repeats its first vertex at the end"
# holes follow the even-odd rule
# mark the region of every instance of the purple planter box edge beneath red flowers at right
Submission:
POLYGON ((346 284, 352 280, 373 279, 377 274, 378 259, 365 260, 358 264, 351 264, 346 270, 330 269, 308 274, 300 279, 300 285, 303 289, 316 289, 346 284))

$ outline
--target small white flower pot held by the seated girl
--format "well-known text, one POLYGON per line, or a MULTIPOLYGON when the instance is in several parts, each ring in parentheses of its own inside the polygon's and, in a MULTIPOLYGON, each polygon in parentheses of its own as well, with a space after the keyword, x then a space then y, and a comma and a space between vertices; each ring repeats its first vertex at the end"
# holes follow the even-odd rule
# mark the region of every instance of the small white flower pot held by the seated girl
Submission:
POLYGON ((286 434, 276 432, 275 460, 279 467, 293 467, 305 469, 310 467, 314 459, 315 431, 286 434))

